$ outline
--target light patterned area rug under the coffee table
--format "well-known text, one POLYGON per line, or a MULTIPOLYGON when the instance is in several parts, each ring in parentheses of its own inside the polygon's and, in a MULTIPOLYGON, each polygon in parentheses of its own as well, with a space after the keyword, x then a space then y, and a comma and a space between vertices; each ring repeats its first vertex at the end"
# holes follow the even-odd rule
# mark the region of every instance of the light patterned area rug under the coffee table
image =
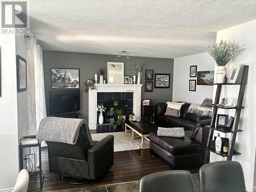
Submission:
MULTIPOLYGON (((100 141, 108 135, 114 135, 114 152, 138 150, 141 147, 141 138, 132 139, 132 132, 112 132, 112 133, 97 133, 92 134, 92 138, 95 141, 100 141)), ((148 141, 144 139, 144 143, 148 144, 148 141)), ((143 148, 148 148, 149 145, 143 148)))

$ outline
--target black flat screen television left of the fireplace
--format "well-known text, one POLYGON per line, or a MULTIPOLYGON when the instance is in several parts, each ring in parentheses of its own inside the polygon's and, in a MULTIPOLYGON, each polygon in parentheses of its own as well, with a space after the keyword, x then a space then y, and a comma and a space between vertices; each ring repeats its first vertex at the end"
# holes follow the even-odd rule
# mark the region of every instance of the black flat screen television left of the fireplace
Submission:
POLYGON ((80 110, 80 90, 49 91, 49 116, 80 110))

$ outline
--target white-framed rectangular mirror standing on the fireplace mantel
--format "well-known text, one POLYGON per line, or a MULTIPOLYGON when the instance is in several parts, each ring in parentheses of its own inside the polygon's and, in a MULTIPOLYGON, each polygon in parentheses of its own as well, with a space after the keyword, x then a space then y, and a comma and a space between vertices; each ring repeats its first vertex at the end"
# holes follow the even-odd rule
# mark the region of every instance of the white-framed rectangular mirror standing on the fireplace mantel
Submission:
POLYGON ((123 84, 124 66, 123 62, 108 62, 108 83, 123 84))

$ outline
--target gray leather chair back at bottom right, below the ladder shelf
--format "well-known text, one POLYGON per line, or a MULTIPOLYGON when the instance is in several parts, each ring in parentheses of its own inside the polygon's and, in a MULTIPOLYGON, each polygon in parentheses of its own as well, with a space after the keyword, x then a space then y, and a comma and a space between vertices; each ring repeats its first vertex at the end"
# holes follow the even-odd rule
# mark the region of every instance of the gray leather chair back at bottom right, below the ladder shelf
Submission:
POLYGON ((245 192, 242 166, 236 161, 218 161, 203 165, 200 170, 201 192, 245 192))

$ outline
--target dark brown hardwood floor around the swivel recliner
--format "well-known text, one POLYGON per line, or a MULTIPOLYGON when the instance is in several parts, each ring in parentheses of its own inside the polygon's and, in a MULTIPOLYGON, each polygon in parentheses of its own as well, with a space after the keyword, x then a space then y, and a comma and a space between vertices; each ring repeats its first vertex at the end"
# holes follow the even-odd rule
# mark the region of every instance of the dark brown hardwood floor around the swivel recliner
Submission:
MULTIPOLYGON (((199 170, 198 167, 190 167, 184 169, 188 169, 191 174, 198 173, 199 170)), ((37 191, 90 187, 137 181, 145 175, 161 172, 163 170, 169 170, 169 166, 162 159, 158 157, 152 157, 148 148, 142 150, 115 152, 114 166, 103 178, 88 184, 72 185, 61 180, 59 175, 49 173, 48 152, 47 149, 44 148, 42 150, 42 170, 45 174, 45 180, 42 189, 37 191)), ((35 185, 38 185, 38 181, 36 183, 30 184, 29 188, 35 187, 35 185)))

